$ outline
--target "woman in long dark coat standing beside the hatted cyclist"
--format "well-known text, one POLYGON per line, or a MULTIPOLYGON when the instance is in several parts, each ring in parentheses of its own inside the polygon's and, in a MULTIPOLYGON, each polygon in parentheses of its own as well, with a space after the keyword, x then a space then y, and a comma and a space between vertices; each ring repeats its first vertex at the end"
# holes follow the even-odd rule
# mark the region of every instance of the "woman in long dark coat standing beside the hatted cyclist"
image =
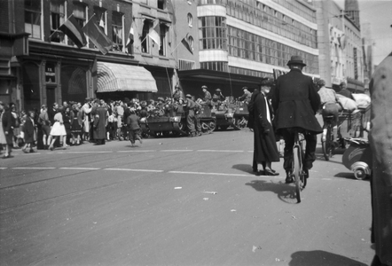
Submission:
POLYGON ((254 171, 257 171, 257 164, 263 165, 265 176, 278 176, 271 168, 272 161, 279 161, 278 148, 275 140, 275 133, 272 128, 272 107, 267 94, 273 81, 265 79, 261 82, 261 92, 255 96, 253 106, 254 114, 254 134, 255 134, 255 151, 254 151, 254 171))

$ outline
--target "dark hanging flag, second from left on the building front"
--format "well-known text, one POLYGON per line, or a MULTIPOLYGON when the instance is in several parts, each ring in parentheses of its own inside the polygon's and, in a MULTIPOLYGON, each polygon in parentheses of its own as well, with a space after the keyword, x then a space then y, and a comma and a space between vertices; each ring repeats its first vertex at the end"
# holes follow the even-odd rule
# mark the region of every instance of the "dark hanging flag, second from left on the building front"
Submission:
POLYGON ((98 50, 106 54, 113 47, 113 42, 105 35, 104 31, 97 25, 92 18, 87 22, 82 31, 90 38, 90 41, 97 46, 98 50))

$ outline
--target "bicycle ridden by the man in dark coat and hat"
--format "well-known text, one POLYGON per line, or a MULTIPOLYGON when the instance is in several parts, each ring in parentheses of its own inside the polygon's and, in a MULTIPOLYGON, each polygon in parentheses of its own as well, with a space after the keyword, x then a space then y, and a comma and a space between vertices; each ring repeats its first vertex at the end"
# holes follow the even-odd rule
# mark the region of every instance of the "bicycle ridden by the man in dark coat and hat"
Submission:
POLYGON ((294 129, 292 176, 294 177, 295 196, 298 203, 301 202, 301 192, 306 186, 305 172, 302 169, 302 160, 304 158, 303 140, 304 137, 300 129, 294 129))

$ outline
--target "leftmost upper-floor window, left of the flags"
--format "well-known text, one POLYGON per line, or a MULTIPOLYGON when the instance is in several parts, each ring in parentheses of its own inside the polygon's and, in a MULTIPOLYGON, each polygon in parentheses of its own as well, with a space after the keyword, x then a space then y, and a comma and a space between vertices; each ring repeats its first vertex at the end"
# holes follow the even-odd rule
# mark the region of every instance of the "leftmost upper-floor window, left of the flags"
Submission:
POLYGON ((41 0, 25 1, 25 31, 31 38, 41 39, 41 0))

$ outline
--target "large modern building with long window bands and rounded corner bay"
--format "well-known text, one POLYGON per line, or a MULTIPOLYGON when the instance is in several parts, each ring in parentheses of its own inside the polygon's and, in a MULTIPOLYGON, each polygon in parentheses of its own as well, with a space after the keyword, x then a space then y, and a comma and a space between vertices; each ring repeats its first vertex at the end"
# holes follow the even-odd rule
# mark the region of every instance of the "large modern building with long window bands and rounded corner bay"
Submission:
POLYGON ((238 97, 273 70, 288 71, 301 55, 305 74, 318 77, 316 9, 296 0, 175 1, 176 35, 192 36, 193 54, 177 51, 184 90, 201 95, 201 85, 238 97), (190 24, 190 21, 192 23, 190 24), (187 25, 188 27, 179 27, 187 25))

